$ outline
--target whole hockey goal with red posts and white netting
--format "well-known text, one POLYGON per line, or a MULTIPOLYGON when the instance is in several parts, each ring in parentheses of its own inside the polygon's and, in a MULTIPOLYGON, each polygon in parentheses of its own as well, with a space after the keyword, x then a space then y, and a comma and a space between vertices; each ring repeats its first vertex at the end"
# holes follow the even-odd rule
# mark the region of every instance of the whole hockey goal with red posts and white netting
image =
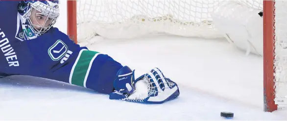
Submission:
MULTIPOLYGON (((260 27, 264 28, 264 36, 258 38, 259 43, 263 44, 264 37, 264 44, 265 41, 269 42, 269 46, 271 44, 269 48, 264 45, 264 62, 271 64, 264 63, 264 110, 274 111, 278 104, 287 104, 287 19, 284 18, 287 2, 265 2, 269 6, 264 4, 263 7, 263 0, 72 0, 68 1, 68 34, 79 44, 87 44, 87 40, 97 35, 111 39, 129 39, 147 34, 228 39, 226 32, 222 31, 228 26, 216 24, 215 18, 217 23, 220 23, 218 18, 221 17, 232 20, 231 25, 244 25, 252 19, 248 12, 257 12, 260 16, 260 12, 268 7, 268 18, 274 19, 275 24, 263 16, 264 27, 263 24, 260 27), (222 7, 227 3, 229 6, 222 7), (242 10, 246 15, 241 14, 242 10), (270 27, 265 30, 265 25, 275 26, 276 29, 270 27), (265 37, 266 31, 272 37, 265 37)), ((234 30, 234 33, 240 36, 241 32, 234 30)), ((250 30, 247 34, 252 37, 254 32, 250 30)))

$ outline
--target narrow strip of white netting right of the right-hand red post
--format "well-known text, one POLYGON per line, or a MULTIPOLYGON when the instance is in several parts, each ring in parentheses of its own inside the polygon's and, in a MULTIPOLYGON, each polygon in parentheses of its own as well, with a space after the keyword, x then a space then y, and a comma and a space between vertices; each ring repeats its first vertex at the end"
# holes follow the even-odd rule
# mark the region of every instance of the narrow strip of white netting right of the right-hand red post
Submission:
POLYGON ((287 1, 275 2, 275 103, 287 104, 287 1))

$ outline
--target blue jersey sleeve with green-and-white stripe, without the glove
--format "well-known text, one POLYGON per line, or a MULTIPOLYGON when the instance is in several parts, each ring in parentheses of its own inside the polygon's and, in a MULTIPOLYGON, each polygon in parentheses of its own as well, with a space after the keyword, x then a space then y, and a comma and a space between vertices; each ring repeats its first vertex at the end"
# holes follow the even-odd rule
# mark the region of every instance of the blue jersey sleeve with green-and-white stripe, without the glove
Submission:
POLYGON ((80 47, 58 30, 28 41, 34 57, 33 76, 67 82, 109 94, 122 65, 107 54, 80 47))

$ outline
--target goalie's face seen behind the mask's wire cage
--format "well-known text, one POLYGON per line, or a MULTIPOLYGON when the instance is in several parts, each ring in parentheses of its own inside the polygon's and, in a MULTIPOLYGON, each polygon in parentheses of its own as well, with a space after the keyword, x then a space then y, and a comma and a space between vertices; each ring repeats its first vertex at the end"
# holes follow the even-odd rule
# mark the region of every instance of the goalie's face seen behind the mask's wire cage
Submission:
POLYGON ((36 10, 36 9, 32 9, 31 11, 31 16, 30 16, 32 25, 37 29, 37 30, 45 30, 47 29, 47 27, 49 27, 49 25, 52 23, 51 18, 49 18, 48 16, 45 16, 44 14, 42 14, 40 11, 36 10))

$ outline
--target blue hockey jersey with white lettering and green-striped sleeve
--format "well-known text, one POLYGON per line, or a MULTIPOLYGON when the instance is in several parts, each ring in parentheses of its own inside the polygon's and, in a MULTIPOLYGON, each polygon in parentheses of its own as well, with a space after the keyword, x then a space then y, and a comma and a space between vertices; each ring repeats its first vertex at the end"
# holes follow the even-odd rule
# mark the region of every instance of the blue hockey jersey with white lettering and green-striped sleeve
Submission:
POLYGON ((113 91, 113 81, 122 65, 106 54, 74 44, 51 27, 33 39, 22 25, 19 1, 0 0, 0 75, 31 75, 94 89, 113 91))

